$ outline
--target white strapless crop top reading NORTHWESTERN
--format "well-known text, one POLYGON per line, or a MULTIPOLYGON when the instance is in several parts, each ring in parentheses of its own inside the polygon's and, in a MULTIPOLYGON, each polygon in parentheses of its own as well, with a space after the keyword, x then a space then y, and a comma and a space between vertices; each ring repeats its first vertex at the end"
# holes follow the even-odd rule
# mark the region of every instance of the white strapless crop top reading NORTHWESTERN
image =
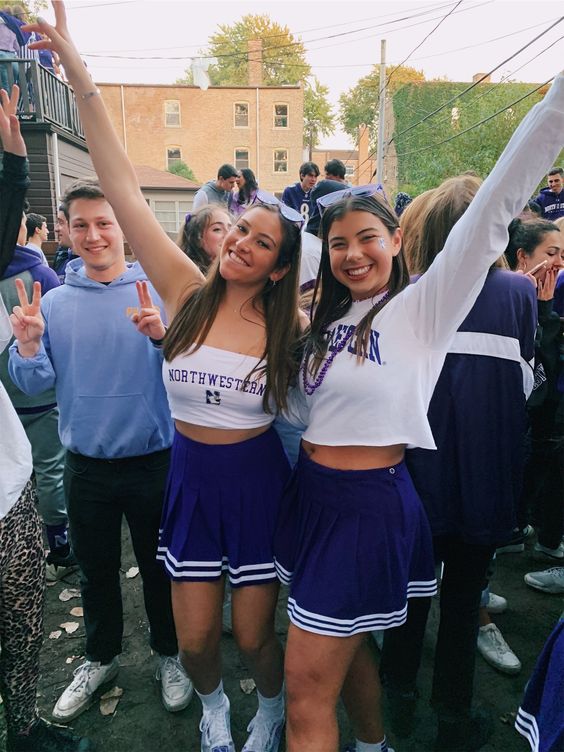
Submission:
POLYGON ((259 428, 274 420, 262 407, 264 375, 249 374, 259 363, 250 355, 202 345, 163 362, 172 417, 207 428, 259 428))

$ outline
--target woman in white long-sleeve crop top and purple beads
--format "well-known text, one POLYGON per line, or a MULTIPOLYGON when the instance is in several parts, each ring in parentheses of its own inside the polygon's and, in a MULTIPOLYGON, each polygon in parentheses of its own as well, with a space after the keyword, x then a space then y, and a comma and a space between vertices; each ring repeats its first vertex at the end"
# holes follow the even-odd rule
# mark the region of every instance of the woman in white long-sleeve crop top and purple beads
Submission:
POLYGON ((320 201, 321 294, 290 411, 306 429, 275 540, 279 576, 291 583, 290 752, 337 750, 341 694, 356 750, 386 748, 364 639, 402 624, 407 598, 436 587, 429 526, 404 451, 435 448, 427 409, 449 342, 563 134, 561 75, 414 285, 397 218, 378 196, 352 189, 336 203, 338 194, 320 201))

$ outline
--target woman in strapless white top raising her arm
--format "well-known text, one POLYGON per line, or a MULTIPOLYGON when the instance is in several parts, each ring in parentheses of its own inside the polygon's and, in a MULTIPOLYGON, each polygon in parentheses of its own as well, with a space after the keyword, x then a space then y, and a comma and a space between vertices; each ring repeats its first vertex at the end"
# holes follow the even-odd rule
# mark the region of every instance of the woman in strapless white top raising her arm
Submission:
POLYGON ((180 657, 203 705, 201 748, 234 749, 219 651, 228 576, 233 634, 259 695, 244 750, 276 752, 284 699, 273 535, 289 464, 271 424, 297 367, 302 218, 258 192, 204 280, 147 206, 64 5, 53 7, 56 26, 33 25, 46 35, 37 47, 60 56, 104 195, 170 322, 163 377, 176 432, 158 557, 172 580, 180 657))

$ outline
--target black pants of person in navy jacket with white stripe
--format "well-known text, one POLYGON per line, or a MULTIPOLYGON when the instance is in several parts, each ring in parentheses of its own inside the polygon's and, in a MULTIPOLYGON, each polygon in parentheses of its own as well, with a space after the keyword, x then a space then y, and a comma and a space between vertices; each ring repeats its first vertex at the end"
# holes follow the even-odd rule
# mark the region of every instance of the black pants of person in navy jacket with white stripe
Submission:
MULTIPOLYGON (((435 560, 444 563, 444 571, 431 702, 440 714, 456 714, 472 703, 478 608, 495 546, 465 543, 454 535, 437 536, 433 545, 435 560)), ((393 689, 415 687, 428 604, 428 599, 412 598, 407 622, 384 633, 380 666, 384 681, 393 689)))

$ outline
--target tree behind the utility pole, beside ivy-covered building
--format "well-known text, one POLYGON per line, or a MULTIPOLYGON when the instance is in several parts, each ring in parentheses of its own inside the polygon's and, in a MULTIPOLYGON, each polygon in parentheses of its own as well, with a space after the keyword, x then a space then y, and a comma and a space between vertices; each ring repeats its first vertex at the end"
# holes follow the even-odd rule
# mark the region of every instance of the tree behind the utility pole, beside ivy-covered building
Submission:
MULTIPOLYGON (((388 65, 386 76, 390 79, 387 85, 390 94, 394 94, 408 83, 425 80, 423 71, 410 68, 408 65, 399 68, 388 65)), ((367 76, 358 81, 356 86, 339 97, 339 122, 345 133, 353 140, 356 140, 358 127, 364 123, 371 127, 372 139, 375 142, 379 93, 380 66, 375 65, 367 76)))

